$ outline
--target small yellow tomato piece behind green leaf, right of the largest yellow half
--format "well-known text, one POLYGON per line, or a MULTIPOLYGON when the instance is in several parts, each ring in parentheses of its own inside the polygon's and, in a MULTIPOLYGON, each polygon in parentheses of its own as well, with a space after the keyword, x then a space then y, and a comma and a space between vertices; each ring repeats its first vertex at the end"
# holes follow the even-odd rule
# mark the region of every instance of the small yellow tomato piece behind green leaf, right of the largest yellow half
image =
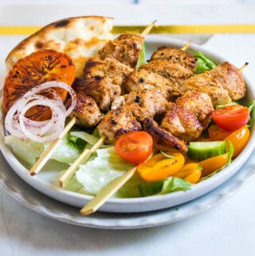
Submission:
POLYGON ((202 175, 202 167, 198 163, 186 163, 182 169, 174 174, 175 177, 185 179, 190 183, 198 183, 202 175))

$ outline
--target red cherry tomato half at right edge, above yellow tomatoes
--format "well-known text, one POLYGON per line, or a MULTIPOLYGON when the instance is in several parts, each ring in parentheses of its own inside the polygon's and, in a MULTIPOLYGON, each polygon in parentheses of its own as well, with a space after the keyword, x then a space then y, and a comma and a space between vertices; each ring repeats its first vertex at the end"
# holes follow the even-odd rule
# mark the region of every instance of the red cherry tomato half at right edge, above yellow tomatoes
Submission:
POLYGON ((248 123, 249 109, 239 104, 233 104, 214 110, 212 117, 219 128, 234 131, 248 123))

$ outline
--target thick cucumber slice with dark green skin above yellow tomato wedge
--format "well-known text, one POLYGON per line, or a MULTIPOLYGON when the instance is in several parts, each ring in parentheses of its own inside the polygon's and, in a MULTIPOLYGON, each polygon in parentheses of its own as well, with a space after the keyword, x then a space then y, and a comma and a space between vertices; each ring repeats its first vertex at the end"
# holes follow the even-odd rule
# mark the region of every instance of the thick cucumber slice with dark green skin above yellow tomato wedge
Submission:
POLYGON ((190 142, 188 145, 188 157, 191 160, 206 160, 225 153, 226 141, 190 142))

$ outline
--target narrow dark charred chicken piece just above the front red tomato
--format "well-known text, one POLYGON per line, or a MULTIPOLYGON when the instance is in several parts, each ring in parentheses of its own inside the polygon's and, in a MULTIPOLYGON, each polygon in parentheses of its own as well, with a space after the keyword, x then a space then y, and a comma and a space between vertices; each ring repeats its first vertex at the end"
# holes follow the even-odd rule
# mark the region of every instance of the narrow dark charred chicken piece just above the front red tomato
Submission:
POLYGON ((179 150, 179 152, 187 152, 187 147, 184 141, 173 136, 171 132, 159 128, 159 125, 151 118, 147 117, 143 120, 143 128, 151 134, 155 148, 158 148, 159 150, 175 148, 179 150))

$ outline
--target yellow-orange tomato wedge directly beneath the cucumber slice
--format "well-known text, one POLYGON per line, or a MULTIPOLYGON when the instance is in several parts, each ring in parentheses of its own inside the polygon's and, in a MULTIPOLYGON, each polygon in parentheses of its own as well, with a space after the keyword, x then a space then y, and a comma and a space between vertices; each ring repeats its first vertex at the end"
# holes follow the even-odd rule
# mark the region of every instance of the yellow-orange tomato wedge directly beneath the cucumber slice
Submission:
POLYGON ((228 152, 219 156, 207 158, 206 160, 199 162, 198 164, 202 166, 202 177, 210 175, 212 172, 223 167, 226 163, 229 162, 229 159, 230 154, 228 152))

